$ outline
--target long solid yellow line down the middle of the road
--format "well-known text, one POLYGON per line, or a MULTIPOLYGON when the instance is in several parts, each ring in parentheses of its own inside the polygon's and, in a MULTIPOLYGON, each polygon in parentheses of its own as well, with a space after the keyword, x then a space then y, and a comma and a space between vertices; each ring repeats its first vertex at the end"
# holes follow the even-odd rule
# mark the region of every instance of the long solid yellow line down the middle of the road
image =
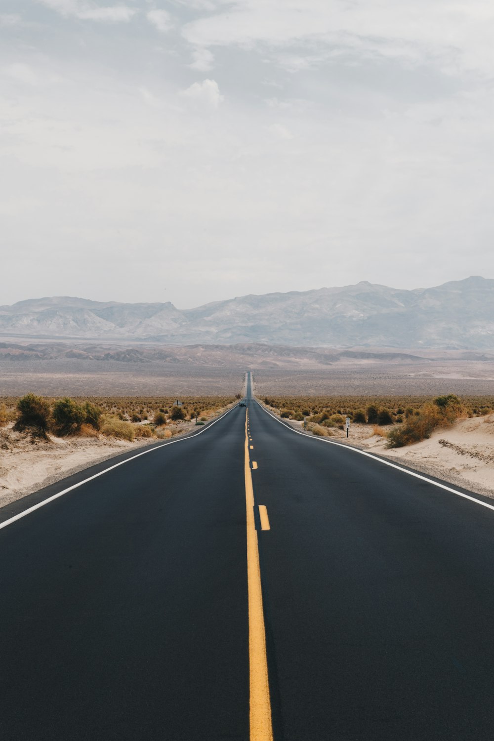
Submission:
MULTIPOLYGON (((250 446, 252 448, 252 445, 250 446)), ((273 741, 266 632, 262 610, 261 569, 254 522, 254 490, 245 424, 245 502, 247 505, 247 586, 249 598, 250 741, 273 741)))

